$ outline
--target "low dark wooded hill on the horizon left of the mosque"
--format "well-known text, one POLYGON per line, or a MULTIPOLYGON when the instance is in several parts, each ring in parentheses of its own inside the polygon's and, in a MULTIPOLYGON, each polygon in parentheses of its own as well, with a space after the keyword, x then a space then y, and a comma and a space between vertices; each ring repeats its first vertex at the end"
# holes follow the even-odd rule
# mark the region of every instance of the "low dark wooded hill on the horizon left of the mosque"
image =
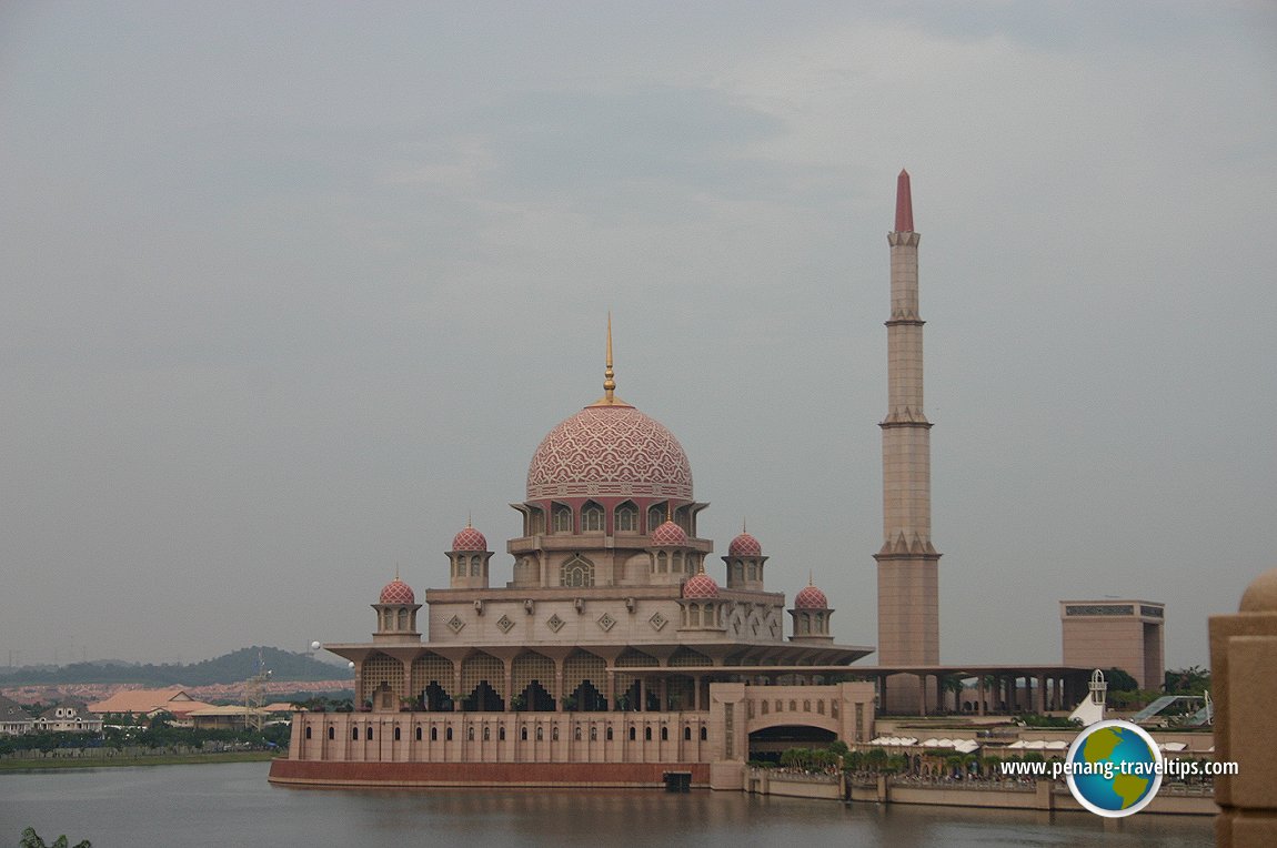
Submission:
POLYGON ((275 681, 340 681, 352 678, 347 668, 323 663, 309 654, 298 654, 278 647, 241 647, 202 663, 137 664, 120 662, 72 663, 60 668, 18 668, 0 674, 0 686, 31 683, 142 683, 144 686, 209 686, 238 683, 258 672, 258 653, 262 664, 271 670, 275 681))

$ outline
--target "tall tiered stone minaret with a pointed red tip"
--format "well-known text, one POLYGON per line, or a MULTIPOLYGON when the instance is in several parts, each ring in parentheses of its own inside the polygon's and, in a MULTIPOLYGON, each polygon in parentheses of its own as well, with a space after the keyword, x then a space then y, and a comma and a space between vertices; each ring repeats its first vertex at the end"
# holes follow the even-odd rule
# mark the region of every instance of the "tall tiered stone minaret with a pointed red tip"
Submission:
MULTIPOLYGON (((922 324, 918 315, 918 239, 909 174, 895 188, 891 318, 886 322, 888 414, 882 428, 882 549, 879 577, 879 664, 940 662, 940 595, 931 545, 931 423, 922 411, 922 324)), ((933 696, 928 697, 933 701, 933 696)), ((930 705, 930 704, 928 704, 930 705)), ((886 710, 917 713, 912 676, 888 678, 886 710)))

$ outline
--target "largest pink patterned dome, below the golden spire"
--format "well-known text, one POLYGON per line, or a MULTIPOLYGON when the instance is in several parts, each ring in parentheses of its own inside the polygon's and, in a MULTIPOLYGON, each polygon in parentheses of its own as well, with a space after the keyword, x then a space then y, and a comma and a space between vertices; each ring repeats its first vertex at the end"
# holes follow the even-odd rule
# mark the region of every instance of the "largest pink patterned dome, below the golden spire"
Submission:
POLYGON ((527 467, 527 499, 596 494, 691 501, 683 446, 628 404, 586 406, 541 439, 527 467))

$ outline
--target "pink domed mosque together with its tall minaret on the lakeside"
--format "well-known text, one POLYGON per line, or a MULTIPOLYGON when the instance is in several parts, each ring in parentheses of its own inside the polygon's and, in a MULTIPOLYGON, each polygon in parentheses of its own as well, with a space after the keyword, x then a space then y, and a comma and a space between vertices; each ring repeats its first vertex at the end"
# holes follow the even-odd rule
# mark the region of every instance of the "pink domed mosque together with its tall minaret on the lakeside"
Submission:
MULTIPOLYGON (((994 693, 1011 697, 1016 679, 1036 678, 1041 708, 1077 697, 1077 669, 937 664, 940 554, 905 172, 889 244, 880 665, 852 665, 872 647, 834 644, 834 609, 815 585, 787 607, 766 585, 762 544, 743 529, 723 564, 711 562, 687 455, 617 395, 609 322, 603 396, 533 453, 526 497, 513 504, 521 533, 506 544, 508 582, 492 585, 490 545, 466 526, 447 552, 448 587, 424 593, 424 633, 418 593, 398 577, 387 584, 370 642, 324 645, 354 664, 360 709, 294 714, 271 780, 599 787, 682 774, 739 789, 751 757, 867 742, 881 710, 942 705, 946 674, 978 674, 982 687, 992 677, 994 693)), ((979 697, 982 710, 983 688, 979 697)))

